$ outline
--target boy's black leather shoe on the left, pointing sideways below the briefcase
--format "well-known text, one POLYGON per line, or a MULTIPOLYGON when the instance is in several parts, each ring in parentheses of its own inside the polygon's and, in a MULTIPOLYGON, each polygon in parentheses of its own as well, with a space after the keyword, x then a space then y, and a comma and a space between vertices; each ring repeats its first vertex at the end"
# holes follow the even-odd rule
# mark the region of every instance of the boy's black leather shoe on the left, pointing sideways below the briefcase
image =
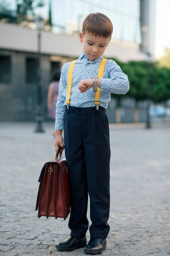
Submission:
POLYGON ((84 238, 78 238, 78 237, 72 237, 69 236, 67 239, 65 239, 63 242, 60 242, 56 245, 56 248, 62 251, 69 251, 75 250, 77 248, 83 248, 87 245, 87 239, 84 238))

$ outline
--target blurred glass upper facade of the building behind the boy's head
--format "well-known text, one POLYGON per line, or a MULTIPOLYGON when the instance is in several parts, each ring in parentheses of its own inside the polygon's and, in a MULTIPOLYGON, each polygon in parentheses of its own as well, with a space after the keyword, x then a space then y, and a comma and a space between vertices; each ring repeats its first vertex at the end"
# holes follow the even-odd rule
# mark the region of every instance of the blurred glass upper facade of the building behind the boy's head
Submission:
MULTIPOLYGON (((84 17, 91 12, 102 12, 113 23, 114 39, 140 44, 139 0, 6 0, 0 19, 11 15, 11 20, 22 22, 27 16, 28 26, 35 28, 34 15, 45 20, 45 29, 55 33, 78 33, 84 17), (24 15, 26 14, 26 15, 24 15), (52 25, 52 26, 51 26, 52 25)), ((11 21, 12 22, 12 21, 11 21)))

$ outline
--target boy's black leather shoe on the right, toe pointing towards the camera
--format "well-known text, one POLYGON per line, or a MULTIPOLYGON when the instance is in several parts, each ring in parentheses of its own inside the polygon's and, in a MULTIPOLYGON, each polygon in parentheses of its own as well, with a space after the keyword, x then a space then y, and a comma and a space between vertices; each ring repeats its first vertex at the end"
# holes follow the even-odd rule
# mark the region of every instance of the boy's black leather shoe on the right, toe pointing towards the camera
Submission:
POLYGON ((85 247, 84 252, 87 254, 100 254, 106 249, 107 241, 103 238, 92 237, 85 247))

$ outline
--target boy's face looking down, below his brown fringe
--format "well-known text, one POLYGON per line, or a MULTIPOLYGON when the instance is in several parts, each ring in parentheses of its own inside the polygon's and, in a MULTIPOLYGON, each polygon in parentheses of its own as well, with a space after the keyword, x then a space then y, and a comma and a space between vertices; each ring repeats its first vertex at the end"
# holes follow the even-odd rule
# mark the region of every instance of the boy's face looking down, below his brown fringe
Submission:
POLYGON ((85 33, 85 35, 82 35, 82 33, 80 32, 79 40, 83 44, 83 52, 90 61, 93 61, 103 55, 106 47, 108 47, 111 38, 99 37, 91 35, 89 33, 85 33))

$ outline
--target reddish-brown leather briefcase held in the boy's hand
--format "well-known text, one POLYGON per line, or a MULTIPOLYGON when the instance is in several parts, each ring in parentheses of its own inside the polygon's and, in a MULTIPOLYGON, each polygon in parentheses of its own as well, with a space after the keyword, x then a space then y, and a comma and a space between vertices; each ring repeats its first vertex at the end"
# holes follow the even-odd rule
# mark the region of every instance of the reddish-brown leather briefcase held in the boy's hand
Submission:
POLYGON ((38 209, 38 218, 46 216, 65 220, 70 213, 68 168, 65 157, 59 154, 61 152, 62 148, 59 146, 55 159, 42 167, 35 208, 38 209))

